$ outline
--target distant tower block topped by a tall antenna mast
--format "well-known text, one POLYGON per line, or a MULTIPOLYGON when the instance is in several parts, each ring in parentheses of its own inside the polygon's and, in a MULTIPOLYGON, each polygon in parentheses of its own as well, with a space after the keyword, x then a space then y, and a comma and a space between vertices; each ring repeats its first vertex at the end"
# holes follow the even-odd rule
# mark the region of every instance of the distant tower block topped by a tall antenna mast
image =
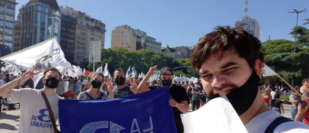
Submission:
POLYGON ((260 38, 260 24, 256 19, 252 19, 248 15, 248 0, 245 0, 245 9, 241 21, 236 21, 235 27, 241 27, 253 34, 256 38, 260 38))

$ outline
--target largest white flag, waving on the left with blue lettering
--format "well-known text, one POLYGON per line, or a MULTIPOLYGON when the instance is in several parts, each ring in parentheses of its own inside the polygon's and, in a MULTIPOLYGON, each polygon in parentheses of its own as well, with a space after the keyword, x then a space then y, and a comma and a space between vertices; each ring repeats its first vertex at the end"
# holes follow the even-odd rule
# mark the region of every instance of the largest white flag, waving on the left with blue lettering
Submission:
POLYGON ((37 65, 37 70, 42 71, 48 67, 57 66, 73 69, 71 63, 66 61, 56 38, 8 54, 1 57, 0 60, 15 65, 23 70, 31 70, 35 65, 37 65))

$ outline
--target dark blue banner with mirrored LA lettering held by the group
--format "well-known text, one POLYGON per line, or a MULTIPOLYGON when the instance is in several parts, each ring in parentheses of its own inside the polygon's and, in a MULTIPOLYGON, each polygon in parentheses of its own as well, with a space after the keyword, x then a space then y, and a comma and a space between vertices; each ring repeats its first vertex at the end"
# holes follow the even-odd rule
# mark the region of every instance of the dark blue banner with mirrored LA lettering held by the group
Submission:
POLYGON ((61 133, 177 133, 167 87, 112 100, 60 100, 61 133))

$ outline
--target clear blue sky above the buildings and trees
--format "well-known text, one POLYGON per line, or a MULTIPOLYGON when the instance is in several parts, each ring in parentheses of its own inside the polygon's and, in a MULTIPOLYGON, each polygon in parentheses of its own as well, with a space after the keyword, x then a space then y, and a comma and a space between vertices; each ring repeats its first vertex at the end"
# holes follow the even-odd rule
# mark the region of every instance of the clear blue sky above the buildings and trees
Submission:
MULTIPOLYGON (((18 9, 29 0, 16 0, 18 9)), ((111 31, 124 24, 147 32, 170 47, 191 46, 216 26, 234 26, 243 15, 244 0, 57 0, 59 6, 70 6, 86 12, 106 24, 105 48, 111 47, 111 31)), ((260 24, 260 40, 287 39, 296 25, 293 9, 300 13, 298 25, 309 18, 308 0, 248 0, 248 12, 260 24)), ((309 28, 309 25, 304 26, 309 28)))

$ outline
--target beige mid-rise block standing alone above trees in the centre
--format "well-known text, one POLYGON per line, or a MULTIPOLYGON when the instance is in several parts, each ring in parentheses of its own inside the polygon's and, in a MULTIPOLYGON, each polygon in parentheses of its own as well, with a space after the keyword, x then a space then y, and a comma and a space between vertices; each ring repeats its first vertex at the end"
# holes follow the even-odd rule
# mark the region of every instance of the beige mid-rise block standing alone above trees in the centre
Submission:
POLYGON ((161 52, 161 42, 147 36, 146 32, 133 29, 129 25, 118 26, 112 30, 112 48, 126 48, 129 51, 150 49, 161 52))

